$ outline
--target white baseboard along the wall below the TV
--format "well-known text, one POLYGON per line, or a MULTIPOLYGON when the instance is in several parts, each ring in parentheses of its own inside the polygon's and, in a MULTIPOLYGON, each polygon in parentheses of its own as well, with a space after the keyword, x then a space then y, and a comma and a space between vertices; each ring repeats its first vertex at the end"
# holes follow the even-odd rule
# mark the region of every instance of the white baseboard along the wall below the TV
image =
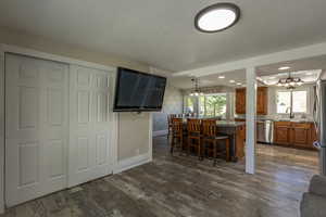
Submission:
POLYGON ((134 156, 127 159, 118 161, 116 166, 113 169, 113 174, 120 174, 122 171, 131 169, 134 167, 140 166, 142 164, 149 163, 152 161, 151 154, 146 153, 142 155, 134 156))

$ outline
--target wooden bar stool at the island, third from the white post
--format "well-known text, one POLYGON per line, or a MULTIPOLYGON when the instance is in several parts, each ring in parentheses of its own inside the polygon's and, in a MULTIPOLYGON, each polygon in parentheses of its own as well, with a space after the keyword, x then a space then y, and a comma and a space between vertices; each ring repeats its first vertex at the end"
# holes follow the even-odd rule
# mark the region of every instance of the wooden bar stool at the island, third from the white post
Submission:
POLYGON ((172 140, 171 140, 171 154, 175 148, 178 148, 180 151, 184 150, 184 123, 183 118, 172 118, 172 140))

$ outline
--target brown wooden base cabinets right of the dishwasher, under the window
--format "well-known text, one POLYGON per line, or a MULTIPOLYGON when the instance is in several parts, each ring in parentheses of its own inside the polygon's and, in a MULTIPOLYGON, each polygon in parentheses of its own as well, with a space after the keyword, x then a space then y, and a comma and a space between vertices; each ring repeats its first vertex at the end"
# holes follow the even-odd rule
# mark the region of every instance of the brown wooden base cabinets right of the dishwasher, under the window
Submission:
POLYGON ((274 143, 293 148, 314 149, 316 132, 312 123, 275 122, 274 143))

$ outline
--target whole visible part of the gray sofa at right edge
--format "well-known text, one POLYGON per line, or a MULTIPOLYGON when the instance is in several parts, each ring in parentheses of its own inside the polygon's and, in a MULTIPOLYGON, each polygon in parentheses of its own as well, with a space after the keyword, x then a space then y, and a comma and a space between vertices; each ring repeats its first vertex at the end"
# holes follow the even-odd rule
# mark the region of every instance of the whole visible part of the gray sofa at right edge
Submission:
POLYGON ((326 177, 315 175, 303 193, 300 204, 301 217, 326 217, 326 177))

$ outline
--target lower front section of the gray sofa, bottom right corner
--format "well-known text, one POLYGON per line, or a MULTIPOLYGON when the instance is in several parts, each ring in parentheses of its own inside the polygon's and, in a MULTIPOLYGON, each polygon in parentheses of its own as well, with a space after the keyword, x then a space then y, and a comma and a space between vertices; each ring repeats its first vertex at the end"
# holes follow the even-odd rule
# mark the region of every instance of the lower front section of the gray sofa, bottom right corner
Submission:
POLYGON ((300 203, 300 217, 325 217, 326 199, 312 193, 304 193, 300 203))

